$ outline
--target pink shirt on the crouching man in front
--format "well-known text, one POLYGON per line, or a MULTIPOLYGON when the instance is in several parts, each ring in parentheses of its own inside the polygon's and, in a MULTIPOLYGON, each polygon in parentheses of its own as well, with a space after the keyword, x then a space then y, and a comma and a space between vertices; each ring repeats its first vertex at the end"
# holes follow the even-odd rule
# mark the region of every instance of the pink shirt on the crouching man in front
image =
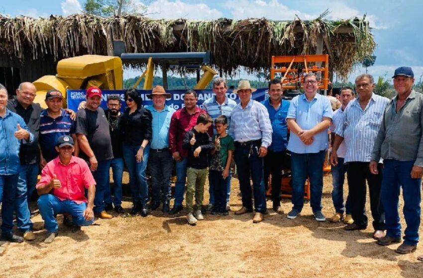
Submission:
POLYGON ((76 156, 72 156, 71 162, 64 165, 59 157, 51 160, 41 171, 41 179, 37 188, 49 184, 53 175, 61 182, 62 187, 52 189, 51 194, 60 200, 72 200, 77 204, 87 203, 85 189, 96 185, 93 174, 87 162, 76 156))

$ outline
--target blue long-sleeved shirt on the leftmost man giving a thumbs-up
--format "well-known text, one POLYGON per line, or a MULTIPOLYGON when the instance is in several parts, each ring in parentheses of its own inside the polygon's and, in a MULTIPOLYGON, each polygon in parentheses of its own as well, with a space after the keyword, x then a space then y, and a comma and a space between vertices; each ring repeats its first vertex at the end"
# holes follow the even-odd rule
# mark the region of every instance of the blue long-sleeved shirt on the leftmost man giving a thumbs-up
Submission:
MULTIPOLYGON (((18 140, 14 136, 17 131, 17 124, 29 132, 22 117, 6 108, 6 114, 4 114, 4 117, 0 117, 0 175, 13 175, 19 171, 20 144, 26 143, 26 141, 24 139, 18 140)), ((28 143, 33 141, 34 135, 29 133, 28 143)))

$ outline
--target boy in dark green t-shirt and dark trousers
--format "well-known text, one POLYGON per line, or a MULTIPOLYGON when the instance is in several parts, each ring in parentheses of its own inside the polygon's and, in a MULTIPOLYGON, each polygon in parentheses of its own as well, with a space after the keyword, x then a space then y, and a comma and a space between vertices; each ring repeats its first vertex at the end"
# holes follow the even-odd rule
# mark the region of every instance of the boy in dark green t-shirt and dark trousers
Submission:
POLYGON ((230 161, 235 150, 232 137, 226 134, 227 118, 224 115, 217 116, 214 120, 217 135, 214 137, 215 151, 209 171, 209 183, 214 185, 214 208, 212 214, 222 213, 228 215, 226 209, 226 178, 229 176, 230 161))

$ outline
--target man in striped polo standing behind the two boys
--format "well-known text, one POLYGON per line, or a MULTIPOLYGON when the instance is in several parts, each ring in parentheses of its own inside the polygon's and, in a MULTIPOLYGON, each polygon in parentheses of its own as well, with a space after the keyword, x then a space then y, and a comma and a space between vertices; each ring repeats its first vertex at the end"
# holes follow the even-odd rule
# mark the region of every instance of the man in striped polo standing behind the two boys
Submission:
MULTIPOLYGON (((212 117, 213 120, 213 133, 216 135, 216 130, 214 128, 214 120, 219 115, 224 115, 227 118, 228 128, 230 127, 230 114, 232 113, 233 108, 236 106, 236 102, 232 99, 229 99, 226 96, 227 85, 226 80, 222 77, 217 77, 213 80, 213 93, 214 96, 206 99, 203 102, 203 109, 212 117)), ((229 204, 229 197, 230 197, 230 180, 231 175, 229 172, 229 176, 226 178, 226 204, 229 204)), ((209 176, 209 194, 210 194, 210 201, 208 205, 208 209, 212 209, 214 205, 214 193, 213 193, 213 184, 210 180, 209 176)))

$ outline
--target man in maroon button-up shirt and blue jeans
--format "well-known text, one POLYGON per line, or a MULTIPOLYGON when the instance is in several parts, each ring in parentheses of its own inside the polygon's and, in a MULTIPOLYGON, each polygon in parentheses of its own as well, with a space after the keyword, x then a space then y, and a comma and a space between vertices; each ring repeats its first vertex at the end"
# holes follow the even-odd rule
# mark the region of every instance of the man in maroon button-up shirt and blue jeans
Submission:
POLYGON ((182 210, 184 200, 185 180, 187 178, 187 156, 188 152, 182 147, 185 133, 193 129, 197 123, 197 118, 206 111, 197 107, 197 93, 188 90, 184 94, 184 106, 173 113, 169 126, 169 147, 172 151, 173 159, 176 161, 176 184, 175 184, 175 204, 169 214, 176 214, 182 210))

